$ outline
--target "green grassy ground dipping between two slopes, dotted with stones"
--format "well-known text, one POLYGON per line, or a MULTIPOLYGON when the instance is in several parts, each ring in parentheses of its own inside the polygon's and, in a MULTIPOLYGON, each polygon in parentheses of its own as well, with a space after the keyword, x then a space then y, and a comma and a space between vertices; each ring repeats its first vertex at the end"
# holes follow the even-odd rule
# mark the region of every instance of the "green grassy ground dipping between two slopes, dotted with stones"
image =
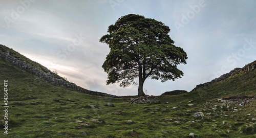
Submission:
POLYGON ((0 137, 189 137, 189 133, 195 133, 194 137, 256 137, 254 69, 191 93, 161 96, 160 104, 130 104, 129 97, 79 93, 3 60, 0 78, 0 137), (8 134, 4 133, 4 80, 8 80, 8 134), (194 118, 196 112, 204 117, 194 118))

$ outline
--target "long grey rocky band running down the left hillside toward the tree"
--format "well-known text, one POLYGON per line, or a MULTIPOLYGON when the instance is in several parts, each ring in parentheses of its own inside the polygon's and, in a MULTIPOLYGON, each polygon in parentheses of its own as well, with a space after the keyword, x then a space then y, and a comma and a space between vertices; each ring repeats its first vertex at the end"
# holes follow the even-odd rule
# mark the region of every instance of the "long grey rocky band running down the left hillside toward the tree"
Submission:
POLYGON ((32 74, 42 80, 45 80, 47 82, 50 82, 58 86, 69 88, 69 89, 79 91, 81 93, 89 94, 89 95, 120 98, 118 96, 100 93, 98 91, 92 91, 92 90, 88 90, 80 86, 77 86, 75 83, 71 83, 63 79, 62 77, 52 73, 50 70, 48 70, 44 66, 41 67, 42 71, 39 71, 37 68, 30 66, 26 61, 20 61, 20 59, 13 57, 9 51, 3 52, 0 50, 0 59, 4 60, 5 62, 9 62, 10 64, 22 69, 23 71, 26 71, 29 74, 32 74))

